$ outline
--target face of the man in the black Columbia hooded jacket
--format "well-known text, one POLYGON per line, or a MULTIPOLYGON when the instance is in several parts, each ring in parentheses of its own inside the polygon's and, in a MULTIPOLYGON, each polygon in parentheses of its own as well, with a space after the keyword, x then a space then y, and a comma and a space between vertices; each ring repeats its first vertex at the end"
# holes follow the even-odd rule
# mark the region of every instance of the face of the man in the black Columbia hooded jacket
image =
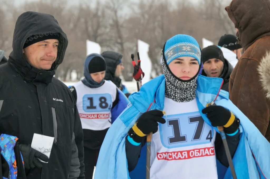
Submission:
POLYGON ((40 70, 50 70, 57 58, 58 44, 58 40, 48 39, 34 43, 22 51, 31 66, 40 70))

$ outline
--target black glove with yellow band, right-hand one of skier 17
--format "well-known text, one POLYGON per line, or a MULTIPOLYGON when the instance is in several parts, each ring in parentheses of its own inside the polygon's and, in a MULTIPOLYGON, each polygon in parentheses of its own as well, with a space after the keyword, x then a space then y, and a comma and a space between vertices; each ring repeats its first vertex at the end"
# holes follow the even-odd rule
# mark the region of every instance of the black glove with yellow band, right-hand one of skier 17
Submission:
POLYGON ((239 127, 239 119, 223 106, 209 106, 202 110, 202 113, 207 113, 207 118, 210 120, 213 127, 223 126, 227 134, 234 133, 239 127))

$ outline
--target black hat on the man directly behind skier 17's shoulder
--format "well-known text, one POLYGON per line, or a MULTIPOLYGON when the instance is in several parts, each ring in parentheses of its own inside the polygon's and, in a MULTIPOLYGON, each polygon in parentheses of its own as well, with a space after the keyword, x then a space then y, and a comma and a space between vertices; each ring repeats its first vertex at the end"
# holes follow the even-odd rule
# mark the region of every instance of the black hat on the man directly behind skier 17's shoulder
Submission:
POLYGON ((223 61, 223 63, 225 62, 225 58, 223 56, 221 49, 216 45, 211 45, 211 46, 205 47, 202 50, 203 64, 205 61, 207 61, 211 58, 217 58, 217 59, 220 59, 221 61, 223 61))

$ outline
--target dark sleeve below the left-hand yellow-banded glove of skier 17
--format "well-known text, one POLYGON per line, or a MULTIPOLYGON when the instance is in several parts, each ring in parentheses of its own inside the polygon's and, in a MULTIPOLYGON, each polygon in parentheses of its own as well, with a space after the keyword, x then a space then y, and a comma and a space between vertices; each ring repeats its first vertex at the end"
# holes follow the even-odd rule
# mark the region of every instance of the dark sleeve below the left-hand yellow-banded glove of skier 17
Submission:
POLYGON ((134 146, 127 140, 126 136, 126 157, 129 172, 134 170, 134 168, 136 167, 138 160, 140 158, 141 148, 144 146, 145 142, 146 137, 145 140, 143 140, 143 142, 139 146, 134 146))

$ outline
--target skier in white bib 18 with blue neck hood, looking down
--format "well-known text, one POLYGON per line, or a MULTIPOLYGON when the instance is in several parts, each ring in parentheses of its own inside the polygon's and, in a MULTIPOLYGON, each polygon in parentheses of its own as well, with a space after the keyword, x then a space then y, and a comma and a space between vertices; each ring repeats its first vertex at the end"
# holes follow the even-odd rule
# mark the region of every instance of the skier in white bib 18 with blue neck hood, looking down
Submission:
POLYGON ((129 103, 113 82, 104 80, 105 72, 104 58, 90 54, 84 63, 85 78, 70 88, 82 122, 85 178, 92 178, 107 130, 129 103))

